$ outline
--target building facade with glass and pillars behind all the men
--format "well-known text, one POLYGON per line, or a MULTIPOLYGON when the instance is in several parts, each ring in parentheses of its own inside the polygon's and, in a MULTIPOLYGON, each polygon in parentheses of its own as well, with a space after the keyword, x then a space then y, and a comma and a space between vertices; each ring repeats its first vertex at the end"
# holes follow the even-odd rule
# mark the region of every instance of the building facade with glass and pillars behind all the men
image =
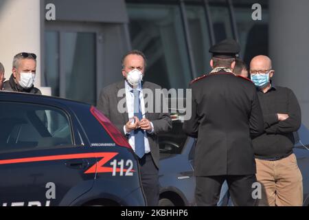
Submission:
POLYGON ((95 104, 102 87, 122 78, 128 50, 146 54, 146 80, 178 89, 209 72, 210 45, 232 38, 248 65, 258 54, 271 56, 276 84, 295 91, 309 126, 307 6, 306 0, 0 0, 0 62, 8 78, 12 57, 34 52, 36 86, 45 94, 95 104))

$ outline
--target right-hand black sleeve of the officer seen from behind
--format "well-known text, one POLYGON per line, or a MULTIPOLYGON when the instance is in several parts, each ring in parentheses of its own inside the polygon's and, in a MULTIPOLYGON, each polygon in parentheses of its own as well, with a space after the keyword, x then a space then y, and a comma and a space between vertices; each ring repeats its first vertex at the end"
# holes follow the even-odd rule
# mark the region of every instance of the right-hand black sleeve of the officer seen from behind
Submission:
POLYGON ((264 132, 264 120, 262 115, 262 109, 256 91, 253 92, 253 99, 251 102, 251 115, 249 118, 249 128, 251 138, 258 137, 264 132))

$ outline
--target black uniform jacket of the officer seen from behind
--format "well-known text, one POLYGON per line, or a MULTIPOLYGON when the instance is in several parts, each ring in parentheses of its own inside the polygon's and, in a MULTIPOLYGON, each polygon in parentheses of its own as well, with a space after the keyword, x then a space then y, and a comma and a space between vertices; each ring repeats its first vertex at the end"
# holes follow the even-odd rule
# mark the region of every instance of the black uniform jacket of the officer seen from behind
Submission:
POLYGON ((251 137, 263 132, 264 121, 253 83, 218 72, 190 87, 192 118, 184 122, 183 129, 197 138, 195 175, 255 174, 251 137))

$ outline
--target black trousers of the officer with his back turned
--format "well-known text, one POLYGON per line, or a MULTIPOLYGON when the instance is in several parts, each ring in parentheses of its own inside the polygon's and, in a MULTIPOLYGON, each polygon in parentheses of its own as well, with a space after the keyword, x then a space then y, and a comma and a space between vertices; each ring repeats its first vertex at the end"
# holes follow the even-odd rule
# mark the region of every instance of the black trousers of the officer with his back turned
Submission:
POLYGON ((258 199, 253 199, 252 184, 255 175, 225 175, 196 177, 195 197, 198 206, 216 206, 220 198, 223 182, 227 180, 229 193, 234 206, 256 206, 258 199))

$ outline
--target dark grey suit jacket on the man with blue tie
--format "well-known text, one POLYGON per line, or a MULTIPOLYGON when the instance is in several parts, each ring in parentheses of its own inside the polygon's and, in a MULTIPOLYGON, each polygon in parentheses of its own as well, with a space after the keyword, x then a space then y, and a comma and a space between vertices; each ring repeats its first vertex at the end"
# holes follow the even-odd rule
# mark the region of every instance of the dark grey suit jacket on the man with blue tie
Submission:
MULTIPOLYGON (((126 100, 126 94, 122 97, 117 97, 119 89, 124 89, 124 80, 114 83, 112 85, 108 85, 104 89, 102 89, 100 93, 100 97, 98 100, 97 108, 106 115, 106 117, 117 126, 117 129, 124 134, 124 125, 128 122, 128 113, 119 113, 117 111, 118 103, 121 103, 121 100, 126 100)), ((161 89, 161 87, 155 83, 143 82, 142 89, 150 89, 155 98, 155 89, 161 89)), ((145 93, 144 97, 145 97, 145 93)), ((124 102, 126 105, 126 103, 124 102)), ((162 101, 161 101, 162 106, 162 101)), ((153 106, 155 107, 155 100, 153 106)), ((170 118, 169 113, 149 113, 146 112, 145 117, 152 122, 154 126, 154 133, 147 133, 148 142, 150 146, 150 153, 155 162, 157 168, 159 168, 159 144, 157 135, 159 133, 167 132, 172 129, 172 120, 170 118)), ((128 138, 128 137, 127 137, 128 138)))

